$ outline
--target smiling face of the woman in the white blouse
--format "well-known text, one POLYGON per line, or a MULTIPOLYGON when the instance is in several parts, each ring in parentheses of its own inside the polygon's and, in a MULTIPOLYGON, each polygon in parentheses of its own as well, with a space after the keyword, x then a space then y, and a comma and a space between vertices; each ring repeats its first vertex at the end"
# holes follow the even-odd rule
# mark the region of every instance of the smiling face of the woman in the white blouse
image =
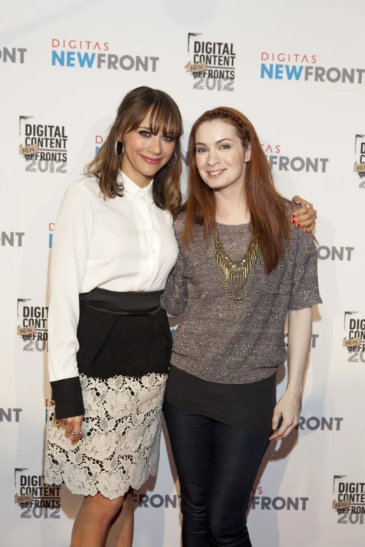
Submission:
POLYGON ((146 185, 169 162, 175 140, 169 132, 160 130, 156 135, 150 129, 150 113, 139 127, 121 138, 124 145, 122 171, 138 185, 146 185))

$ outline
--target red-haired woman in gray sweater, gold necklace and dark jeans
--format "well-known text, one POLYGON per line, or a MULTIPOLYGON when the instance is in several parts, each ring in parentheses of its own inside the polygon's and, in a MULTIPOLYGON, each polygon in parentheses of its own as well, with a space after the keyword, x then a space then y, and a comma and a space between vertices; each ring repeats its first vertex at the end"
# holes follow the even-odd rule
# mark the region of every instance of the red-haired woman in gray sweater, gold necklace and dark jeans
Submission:
POLYGON ((199 117, 186 210, 174 225, 180 254, 163 297, 167 312, 185 312, 164 403, 183 547, 252 545, 245 512, 257 470, 269 442, 299 422, 321 300, 313 236, 296 224, 250 121, 225 107, 199 117), (289 379, 276 404, 288 311, 289 379))

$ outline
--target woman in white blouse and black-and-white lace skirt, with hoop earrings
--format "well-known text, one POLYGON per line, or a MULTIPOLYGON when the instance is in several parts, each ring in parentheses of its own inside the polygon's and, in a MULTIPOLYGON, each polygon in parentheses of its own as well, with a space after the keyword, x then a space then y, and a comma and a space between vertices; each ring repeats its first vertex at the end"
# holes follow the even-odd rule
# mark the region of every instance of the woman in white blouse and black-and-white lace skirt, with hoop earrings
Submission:
MULTIPOLYGON (((101 547, 130 488, 157 473, 171 333, 160 295, 178 256, 183 124, 169 95, 139 87, 71 184, 50 273, 45 482, 85 496, 73 547, 101 547)), ((131 546, 129 523, 118 546, 131 546)))

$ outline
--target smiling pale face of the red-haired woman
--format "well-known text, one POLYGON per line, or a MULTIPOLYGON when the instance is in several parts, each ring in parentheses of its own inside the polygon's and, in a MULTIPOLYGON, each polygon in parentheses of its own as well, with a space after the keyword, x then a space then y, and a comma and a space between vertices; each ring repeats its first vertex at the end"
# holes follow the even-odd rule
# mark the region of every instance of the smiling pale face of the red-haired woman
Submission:
POLYGON ((222 119, 203 122, 195 136, 196 168, 203 182, 215 191, 242 186, 250 147, 245 149, 234 125, 222 119))

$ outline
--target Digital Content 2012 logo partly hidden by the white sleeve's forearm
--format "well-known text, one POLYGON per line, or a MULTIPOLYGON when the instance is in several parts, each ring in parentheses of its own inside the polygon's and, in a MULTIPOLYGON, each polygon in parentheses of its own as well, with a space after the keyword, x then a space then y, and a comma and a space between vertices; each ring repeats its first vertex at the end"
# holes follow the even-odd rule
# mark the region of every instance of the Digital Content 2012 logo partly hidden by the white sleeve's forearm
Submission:
POLYGON ((35 306, 31 298, 18 298, 17 319, 23 351, 48 351, 48 307, 35 306))

